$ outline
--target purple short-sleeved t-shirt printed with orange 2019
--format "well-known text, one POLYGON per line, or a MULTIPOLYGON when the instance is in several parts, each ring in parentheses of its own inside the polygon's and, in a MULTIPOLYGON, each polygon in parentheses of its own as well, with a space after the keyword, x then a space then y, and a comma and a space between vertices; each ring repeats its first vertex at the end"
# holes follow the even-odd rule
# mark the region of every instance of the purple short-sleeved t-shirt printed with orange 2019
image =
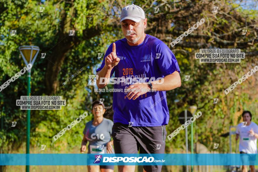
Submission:
MULTIPOLYGON (((155 79, 180 73, 177 60, 172 51, 158 38, 146 34, 144 41, 137 46, 130 46, 125 38, 116 43, 116 55, 120 62, 111 71, 115 77, 155 79)), ((113 43, 108 47, 100 71, 105 65, 105 57, 112 52, 113 43)), ((128 80, 126 83, 128 83, 128 80)), ((149 80, 146 80, 147 82, 149 80)), ((115 89, 125 89, 132 84, 114 84, 115 89)), ((113 92, 113 121, 132 126, 154 127, 167 125, 169 110, 166 91, 147 92, 133 100, 126 97, 125 92, 113 92)))

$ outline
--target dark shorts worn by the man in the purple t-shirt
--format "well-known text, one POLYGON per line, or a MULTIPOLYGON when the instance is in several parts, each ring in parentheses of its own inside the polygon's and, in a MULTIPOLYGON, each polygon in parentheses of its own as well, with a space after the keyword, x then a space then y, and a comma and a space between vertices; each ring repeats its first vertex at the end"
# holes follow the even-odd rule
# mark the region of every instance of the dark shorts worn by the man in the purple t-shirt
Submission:
MULTIPOLYGON (((164 154, 166 126, 128 127, 119 122, 112 127, 115 154, 164 154)), ((162 166, 143 166, 145 171, 160 172, 162 166)))

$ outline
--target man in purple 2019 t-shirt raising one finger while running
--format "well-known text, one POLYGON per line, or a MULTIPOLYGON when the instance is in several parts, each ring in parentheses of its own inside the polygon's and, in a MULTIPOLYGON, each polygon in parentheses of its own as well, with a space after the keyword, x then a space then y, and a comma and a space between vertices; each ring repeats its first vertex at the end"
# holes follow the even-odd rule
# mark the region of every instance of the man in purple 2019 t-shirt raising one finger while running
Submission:
MULTIPOLYGON (((123 8, 120 23, 125 38, 108 47, 96 70, 99 88, 115 72, 114 88, 129 90, 113 93, 115 153, 138 154, 140 149, 140 154, 164 154, 169 121, 166 91, 181 86, 177 60, 164 42, 144 33, 147 18, 139 6, 123 8)), ((143 166, 148 172, 161 171, 161 167, 143 166)), ((118 166, 118 170, 133 172, 135 166, 118 166)))

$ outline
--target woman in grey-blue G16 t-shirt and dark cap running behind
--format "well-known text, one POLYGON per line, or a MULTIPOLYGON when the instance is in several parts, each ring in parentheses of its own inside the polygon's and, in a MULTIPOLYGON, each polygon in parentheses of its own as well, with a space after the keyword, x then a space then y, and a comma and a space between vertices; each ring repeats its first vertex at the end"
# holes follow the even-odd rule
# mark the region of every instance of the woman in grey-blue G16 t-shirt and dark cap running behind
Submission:
MULTIPOLYGON (((113 122, 103 117, 106 109, 103 103, 94 101, 92 103, 92 113, 94 120, 86 123, 83 131, 81 153, 86 151, 88 145, 88 154, 113 154, 113 140, 111 141, 111 133, 113 122)), ((114 166, 87 166, 88 172, 113 172, 114 166)))

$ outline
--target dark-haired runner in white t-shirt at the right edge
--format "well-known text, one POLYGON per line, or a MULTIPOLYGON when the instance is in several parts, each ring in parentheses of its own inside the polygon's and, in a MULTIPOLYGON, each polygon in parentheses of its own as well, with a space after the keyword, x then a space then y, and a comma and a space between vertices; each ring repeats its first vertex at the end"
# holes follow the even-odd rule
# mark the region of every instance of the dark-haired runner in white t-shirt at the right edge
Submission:
MULTIPOLYGON (((252 120, 252 114, 249 111, 242 113, 244 122, 237 125, 236 140, 239 138, 239 151, 240 154, 257 154, 257 138, 258 138, 258 125, 252 120)), ((244 161, 245 158, 249 158, 249 161, 255 161, 255 155, 242 156, 244 161)), ((250 165, 251 172, 255 172, 254 165, 250 165)), ((242 172, 247 172, 247 166, 242 166, 242 172)))

